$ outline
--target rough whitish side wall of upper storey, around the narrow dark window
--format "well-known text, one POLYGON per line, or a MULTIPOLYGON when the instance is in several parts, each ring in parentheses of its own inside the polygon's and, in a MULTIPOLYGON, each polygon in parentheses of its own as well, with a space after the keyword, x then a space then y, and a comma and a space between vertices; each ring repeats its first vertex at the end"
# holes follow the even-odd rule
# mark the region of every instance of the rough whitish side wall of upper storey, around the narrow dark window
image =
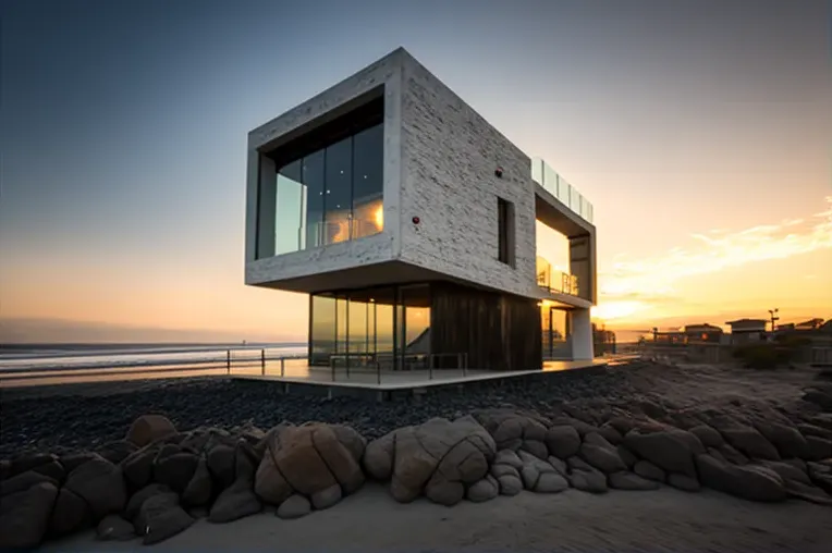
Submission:
POLYGON ((530 159, 407 54, 402 78, 401 259, 535 297, 530 159), (515 267, 498 260, 498 197, 514 204, 515 267))

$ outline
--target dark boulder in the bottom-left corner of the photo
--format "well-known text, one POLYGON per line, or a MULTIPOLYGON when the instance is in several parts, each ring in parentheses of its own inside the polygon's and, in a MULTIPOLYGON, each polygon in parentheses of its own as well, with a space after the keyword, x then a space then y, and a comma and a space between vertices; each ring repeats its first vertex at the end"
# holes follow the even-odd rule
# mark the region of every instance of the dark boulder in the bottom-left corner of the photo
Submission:
POLYGON ((0 497, 0 550, 34 549, 49 527, 58 488, 50 481, 0 497))

